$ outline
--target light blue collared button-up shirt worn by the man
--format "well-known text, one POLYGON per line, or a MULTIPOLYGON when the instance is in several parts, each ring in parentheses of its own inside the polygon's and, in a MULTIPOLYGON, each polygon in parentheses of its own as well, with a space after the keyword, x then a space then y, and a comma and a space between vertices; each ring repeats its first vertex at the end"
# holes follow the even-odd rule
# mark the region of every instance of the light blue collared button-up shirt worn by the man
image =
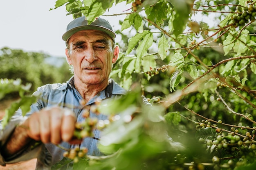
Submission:
MULTIPOLYGON (((88 103, 86 103, 86 105, 93 105, 94 102, 96 102, 98 99, 108 100, 109 98, 117 98, 121 95, 126 94, 126 92, 127 91, 125 89, 123 89, 117 83, 115 83, 115 81, 110 79, 106 89, 104 89, 103 91, 99 92, 96 96, 94 96, 90 101, 88 101, 88 103)), ((85 118, 83 118, 82 116, 83 109, 80 104, 80 102, 83 100, 83 97, 74 87, 74 76, 70 78, 70 80, 67 81, 67 83, 47 84, 42 87, 39 87, 37 91, 34 92, 34 95, 40 95, 40 97, 38 98, 35 104, 31 105, 31 111, 27 114, 27 116, 29 116, 31 113, 34 113, 35 111, 39 111, 46 107, 59 106, 71 109, 76 114, 77 122, 83 122, 85 120, 85 118)), ((18 118, 10 122, 10 127, 7 127, 7 129, 11 129, 11 124, 17 124, 19 120, 22 119, 19 119, 19 117, 21 116, 18 116, 18 118)), ((107 119, 106 115, 95 114, 92 111, 90 111, 90 117, 98 118, 99 120, 107 119)), ((4 144, 3 141, 6 140, 4 138, 6 136, 9 136, 7 135, 7 133, 11 134, 11 131, 6 131, 6 134, 0 134, 1 146, 4 144)), ((97 138, 100 138, 100 131, 95 129, 93 134, 93 138, 86 137, 85 139, 83 139, 83 142, 81 143, 81 145, 79 145, 79 147, 88 148, 88 155, 100 156, 102 155, 102 153, 100 153, 99 149, 97 148, 97 138)), ((67 142, 62 142, 60 145, 65 148, 77 147, 75 145, 70 145, 67 142)), ((64 150, 57 147, 54 144, 45 144, 43 146, 40 146, 40 149, 38 149, 36 153, 34 152, 36 152, 36 149, 24 150, 22 154, 19 153, 19 156, 16 155, 14 156, 14 158, 8 161, 4 160, 0 155, 0 164, 4 165, 5 162, 13 163, 17 161, 22 161, 22 157, 26 157, 27 154, 33 153, 34 157, 39 156, 36 169, 48 169, 46 165, 54 165, 55 163, 63 159, 64 150), (39 155, 36 155, 38 153, 39 155)), ((65 167, 65 169, 70 169, 70 167, 65 167)))

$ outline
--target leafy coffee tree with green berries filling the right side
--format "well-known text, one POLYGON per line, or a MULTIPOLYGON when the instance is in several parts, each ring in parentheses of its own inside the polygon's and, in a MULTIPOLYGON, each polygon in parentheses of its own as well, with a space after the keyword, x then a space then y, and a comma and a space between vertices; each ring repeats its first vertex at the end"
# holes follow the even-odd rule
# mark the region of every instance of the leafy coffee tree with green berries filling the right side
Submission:
MULTIPOLYGON (((57 0, 55 7, 92 22, 123 1, 57 0)), ((130 11, 116 14, 126 17, 111 76, 132 92, 98 106, 110 115, 97 125, 99 148, 114 154, 79 158, 67 150, 53 168, 74 160, 86 170, 255 169, 255 1, 126 2, 130 11)))

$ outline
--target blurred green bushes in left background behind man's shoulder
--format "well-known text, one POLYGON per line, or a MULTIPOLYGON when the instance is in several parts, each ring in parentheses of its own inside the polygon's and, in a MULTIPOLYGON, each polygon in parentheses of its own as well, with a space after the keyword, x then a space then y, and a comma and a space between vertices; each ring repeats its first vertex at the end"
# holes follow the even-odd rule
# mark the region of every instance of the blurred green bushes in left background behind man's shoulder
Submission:
MULTIPOLYGON (((50 56, 40 52, 24 52, 4 47, 0 49, 0 78, 17 79, 31 83, 31 91, 46 83, 62 83, 71 77, 69 66, 63 62, 61 67, 46 62, 50 56)), ((65 59, 63 58, 65 61, 65 59)), ((13 94, 15 95, 15 94, 13 94)))

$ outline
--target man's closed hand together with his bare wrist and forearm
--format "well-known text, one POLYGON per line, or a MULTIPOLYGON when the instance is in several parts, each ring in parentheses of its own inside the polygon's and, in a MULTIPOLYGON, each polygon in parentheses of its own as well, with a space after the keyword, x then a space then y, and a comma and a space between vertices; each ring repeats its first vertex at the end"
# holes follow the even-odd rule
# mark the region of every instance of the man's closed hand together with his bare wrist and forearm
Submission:
POLYGON ((75 114, 66 108, 53 107, 35 112, 16 127, 1 154, 9 157, 24 148, 31 139, 43 143, 72 142, 76 123, 75 114))

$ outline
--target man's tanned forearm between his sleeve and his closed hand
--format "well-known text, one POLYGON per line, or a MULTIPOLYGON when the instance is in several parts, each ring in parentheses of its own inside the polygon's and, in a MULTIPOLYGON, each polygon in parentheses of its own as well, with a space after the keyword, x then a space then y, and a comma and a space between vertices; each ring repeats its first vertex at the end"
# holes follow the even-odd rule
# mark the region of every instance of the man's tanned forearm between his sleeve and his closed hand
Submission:
POLYGON ((27 130, 22 126, 17 126, 7 142, 0 149, 1 155, 4 158, 11 157, 26 148, 27 144, 31 141, 32 139, 27 135, 27 130))

